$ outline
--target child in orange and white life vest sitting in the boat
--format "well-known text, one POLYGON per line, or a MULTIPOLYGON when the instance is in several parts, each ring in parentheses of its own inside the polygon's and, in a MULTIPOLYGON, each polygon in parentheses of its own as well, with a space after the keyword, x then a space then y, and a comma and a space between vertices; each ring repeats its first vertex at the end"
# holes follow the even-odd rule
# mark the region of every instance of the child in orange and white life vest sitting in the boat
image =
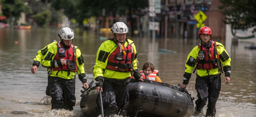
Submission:
POLYGON ((158 70, 155 69, 155 66, 151 62, 144 63, 142 71, 140 71, 140 74, 143 76, 144 79, 162 83, 158 75, 158 70))

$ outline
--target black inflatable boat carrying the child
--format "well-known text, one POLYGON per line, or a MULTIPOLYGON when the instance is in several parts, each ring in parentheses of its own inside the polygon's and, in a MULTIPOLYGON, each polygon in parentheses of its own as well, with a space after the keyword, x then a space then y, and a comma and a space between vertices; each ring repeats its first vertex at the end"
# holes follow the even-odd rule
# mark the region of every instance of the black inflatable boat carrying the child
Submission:
MULTIPOLYGON (((194 98, 186 89, 151 80, 131 79, 129 82, 129 117, 189 117, 193 113, 194 98)), ((80 107, 86 117, 101 114, 100 98, 96 88, 81 90, 80 107)))

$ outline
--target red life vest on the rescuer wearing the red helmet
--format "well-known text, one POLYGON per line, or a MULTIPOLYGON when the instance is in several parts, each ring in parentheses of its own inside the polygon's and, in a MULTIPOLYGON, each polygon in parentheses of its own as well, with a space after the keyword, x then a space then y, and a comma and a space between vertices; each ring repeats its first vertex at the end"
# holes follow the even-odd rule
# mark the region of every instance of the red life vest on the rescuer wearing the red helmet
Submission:
POLYGON ((216 42, 211 41, 209 50, 198 44, 199 54, 197 57, 197 69, 216 69, 219 67, 220 58, 216 48, 216 42))

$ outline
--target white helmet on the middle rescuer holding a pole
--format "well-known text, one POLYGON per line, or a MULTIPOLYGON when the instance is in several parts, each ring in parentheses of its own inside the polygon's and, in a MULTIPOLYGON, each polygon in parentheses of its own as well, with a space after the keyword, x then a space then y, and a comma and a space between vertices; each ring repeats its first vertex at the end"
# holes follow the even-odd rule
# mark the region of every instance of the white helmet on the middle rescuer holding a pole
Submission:
POLYGON ((128 33, 129 29, 123 22, 117 22, 111 27, 112 33, 128 33))

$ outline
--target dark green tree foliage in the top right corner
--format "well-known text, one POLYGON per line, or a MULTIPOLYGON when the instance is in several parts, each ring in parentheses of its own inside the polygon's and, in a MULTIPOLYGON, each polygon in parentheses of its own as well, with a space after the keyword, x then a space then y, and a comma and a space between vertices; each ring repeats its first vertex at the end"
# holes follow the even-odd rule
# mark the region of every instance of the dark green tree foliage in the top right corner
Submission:
POLYGON ((218 8, 226 15, 224 23, 230 24, 232 29, 256 31, 256 0, 219 0, 222 5, 218 8))

